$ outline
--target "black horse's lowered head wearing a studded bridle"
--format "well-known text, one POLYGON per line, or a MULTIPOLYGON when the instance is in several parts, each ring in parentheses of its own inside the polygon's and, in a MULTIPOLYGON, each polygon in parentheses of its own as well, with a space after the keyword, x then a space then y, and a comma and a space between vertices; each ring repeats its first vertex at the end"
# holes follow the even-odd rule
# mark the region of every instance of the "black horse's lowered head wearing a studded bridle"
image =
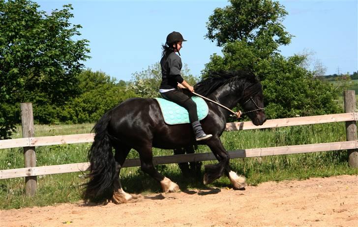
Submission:
POLYGON ((258 80, 254 84, 249 83, 245 86, 239 103, 243 108, 243 114, 246 114, 254 125, 265 123, 267 119, 264 111, 264 95, 258 80))

